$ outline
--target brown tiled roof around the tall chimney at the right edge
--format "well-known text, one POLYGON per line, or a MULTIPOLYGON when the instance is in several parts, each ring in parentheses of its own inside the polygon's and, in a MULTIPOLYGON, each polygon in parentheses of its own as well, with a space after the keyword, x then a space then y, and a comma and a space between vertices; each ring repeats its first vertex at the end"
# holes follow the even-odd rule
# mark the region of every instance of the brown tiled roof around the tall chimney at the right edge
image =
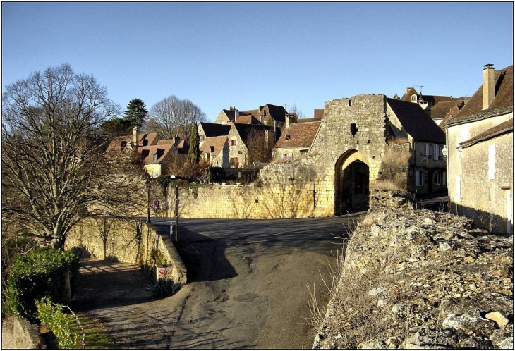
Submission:
POLYGON ((513 65, 496 70, 494 73, 495 92, 494 99, 487 109, 483 110, 483 85, 473 94, 463 109, 444 124, 445 128, 484 118, 501 116, 513 112, 513 65))

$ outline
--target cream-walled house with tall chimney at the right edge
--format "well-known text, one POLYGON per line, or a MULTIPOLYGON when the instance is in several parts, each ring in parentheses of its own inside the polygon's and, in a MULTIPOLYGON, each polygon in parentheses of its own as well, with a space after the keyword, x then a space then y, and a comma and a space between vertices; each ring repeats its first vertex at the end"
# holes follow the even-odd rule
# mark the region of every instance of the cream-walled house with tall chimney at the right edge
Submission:
POLYGON ((513 66, 485 65, 483 85, 444 121, 452 210, 501 233, 513 233, 513 85, 513 66))

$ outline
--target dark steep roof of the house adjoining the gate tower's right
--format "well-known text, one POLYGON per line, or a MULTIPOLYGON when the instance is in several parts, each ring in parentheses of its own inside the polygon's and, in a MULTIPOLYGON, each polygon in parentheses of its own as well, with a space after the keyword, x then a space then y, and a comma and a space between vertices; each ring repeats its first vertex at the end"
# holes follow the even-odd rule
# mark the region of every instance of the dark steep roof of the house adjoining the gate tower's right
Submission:
POLYGON ((406 133, 411 135, 414 140, 445 143, 445 133, 419 104, 388 97, 386 100, 406 133))

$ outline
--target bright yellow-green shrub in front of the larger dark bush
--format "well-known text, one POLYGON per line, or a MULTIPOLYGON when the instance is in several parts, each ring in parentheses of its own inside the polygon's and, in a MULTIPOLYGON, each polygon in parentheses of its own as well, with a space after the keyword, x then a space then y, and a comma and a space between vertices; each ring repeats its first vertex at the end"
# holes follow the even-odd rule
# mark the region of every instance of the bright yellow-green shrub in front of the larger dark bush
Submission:
POLYGON ((71 333, 70 318, 63 313, 62 307, 59 304, 52 304, 48 297, 37 300, 36 307, 41 324, 47 326, 56 335, 59 348, 75 348, 80 335, 71 333))

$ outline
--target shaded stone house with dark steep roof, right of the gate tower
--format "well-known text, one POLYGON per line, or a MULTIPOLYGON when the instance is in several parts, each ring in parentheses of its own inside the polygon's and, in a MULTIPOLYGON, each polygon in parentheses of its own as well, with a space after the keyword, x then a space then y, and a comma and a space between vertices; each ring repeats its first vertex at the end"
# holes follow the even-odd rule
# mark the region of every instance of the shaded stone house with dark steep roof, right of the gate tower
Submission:
POLYGON ((447 192, 447 168, 442 154, 445 133, 420 105, 389 98, 386 102, 387 132, 410 144, 408 192, 413 196, 447 192))

